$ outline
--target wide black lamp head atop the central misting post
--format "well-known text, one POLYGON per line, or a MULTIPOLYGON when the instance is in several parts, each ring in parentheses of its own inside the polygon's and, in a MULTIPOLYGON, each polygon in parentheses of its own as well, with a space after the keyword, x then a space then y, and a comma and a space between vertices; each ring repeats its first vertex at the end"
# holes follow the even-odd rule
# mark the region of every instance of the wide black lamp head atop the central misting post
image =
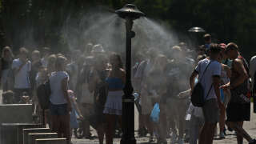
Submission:
POLYGON ((145 16, 144 13, 138 10, 137 6, 132 4, 126 4, 122 9, 116 10, 115 13, 118 14, 120 18, 131 18, 132 20, 145 16))

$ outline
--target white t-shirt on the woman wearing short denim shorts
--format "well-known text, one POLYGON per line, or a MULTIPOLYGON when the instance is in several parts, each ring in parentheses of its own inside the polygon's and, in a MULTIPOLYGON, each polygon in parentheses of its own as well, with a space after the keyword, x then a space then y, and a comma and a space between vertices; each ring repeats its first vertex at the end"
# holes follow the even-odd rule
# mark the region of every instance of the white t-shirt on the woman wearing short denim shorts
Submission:
POLYGON ((61 105, 66 103, 62 90, 62 80, 69 78, 66 71, 57 71, 50 76, 50 102, 54 105, 61 105))

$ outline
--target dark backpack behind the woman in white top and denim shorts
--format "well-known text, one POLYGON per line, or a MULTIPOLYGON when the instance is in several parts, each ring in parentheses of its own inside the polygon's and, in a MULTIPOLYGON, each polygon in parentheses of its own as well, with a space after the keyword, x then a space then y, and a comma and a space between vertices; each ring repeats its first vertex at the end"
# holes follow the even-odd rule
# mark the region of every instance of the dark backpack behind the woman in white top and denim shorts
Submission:
POLYGON ((38 86, 37 89, 38 103, 42 110, 49 109, 50 106, 50 82, 47 81, 38 86))

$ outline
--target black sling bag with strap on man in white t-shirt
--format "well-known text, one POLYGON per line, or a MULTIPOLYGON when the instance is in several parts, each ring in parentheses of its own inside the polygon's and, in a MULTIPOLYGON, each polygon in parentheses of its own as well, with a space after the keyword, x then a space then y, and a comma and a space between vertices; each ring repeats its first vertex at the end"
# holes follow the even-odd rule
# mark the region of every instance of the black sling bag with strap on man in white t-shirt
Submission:
MULTIPOLYGON (((210 63, 206 66, 206 70, 210 66, 210 63)), ((206 73, 206 70, 203 72, 202 77, 206 73)), ((202 77, 200 78, 200 80, 202 79, 202 77)), ((198 83, 194 86, 194 90, 192 91, 192 94, 191 94, 191 102, 192 102, 192 104, 194 106, 198 106, 198 107, 202 107, 205 104, 205 97, 204 97, 205 90, 202 87, 202 83, 200 82, 200 80, 198 80, 198 83)), ((210 86, 210 90, 212 89, 212 87, 213 87, 213 85, 210 86)), ((208 93, 206 95, 206 98, 210 94, 210 90, 208 91, 208 93)))

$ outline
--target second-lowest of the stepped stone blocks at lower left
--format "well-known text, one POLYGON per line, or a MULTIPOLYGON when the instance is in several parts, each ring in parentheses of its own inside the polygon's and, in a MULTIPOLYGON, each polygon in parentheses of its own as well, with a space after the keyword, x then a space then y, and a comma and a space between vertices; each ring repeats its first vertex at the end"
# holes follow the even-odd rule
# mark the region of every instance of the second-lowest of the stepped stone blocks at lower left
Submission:
POLYGON ((27 144, 35 144, 36 139, 40 138, 58 138, 57 133, 37 133, 37 134, 29 134, 27 144))

